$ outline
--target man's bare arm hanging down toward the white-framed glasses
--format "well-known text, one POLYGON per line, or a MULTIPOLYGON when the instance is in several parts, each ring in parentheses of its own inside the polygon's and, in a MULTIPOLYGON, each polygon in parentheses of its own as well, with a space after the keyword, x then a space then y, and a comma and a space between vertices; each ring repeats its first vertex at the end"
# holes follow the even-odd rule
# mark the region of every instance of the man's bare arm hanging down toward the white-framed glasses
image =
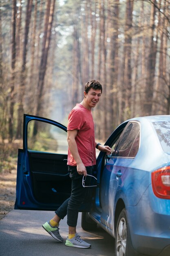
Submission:
POLYGON ((70 149, 71 154, 73 155, 73 158, 75 159, 75 162, 77 164, 77 172, 80 175, 87 175, 86 167, 84 166, 82 159, 79 156, 79 151, 77 148, 77 143, 75 141, 75 137, 77 136, 78 130, 68 130, 67 131, 67 142, 68 147, 70 149))

